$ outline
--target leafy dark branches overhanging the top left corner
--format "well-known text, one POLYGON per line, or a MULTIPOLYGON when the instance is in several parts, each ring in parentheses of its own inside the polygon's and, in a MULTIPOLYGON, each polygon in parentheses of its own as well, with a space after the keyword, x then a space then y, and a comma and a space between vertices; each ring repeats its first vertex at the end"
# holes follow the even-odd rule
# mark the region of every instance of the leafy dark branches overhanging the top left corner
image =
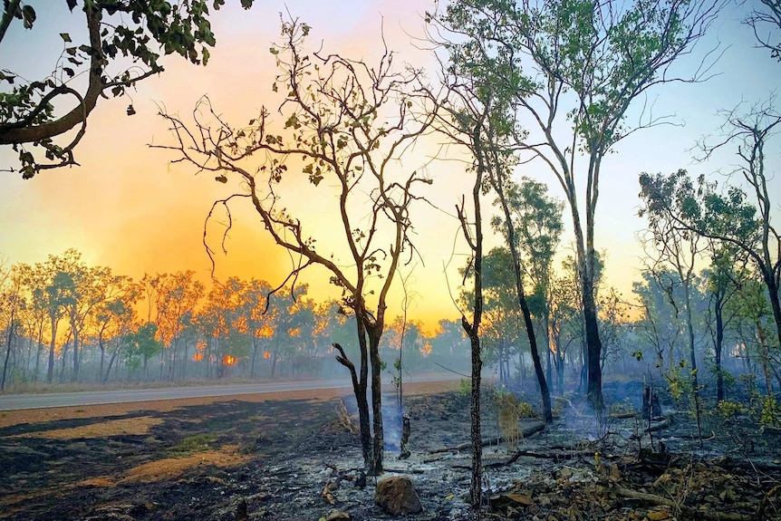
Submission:
MULTIPOLYGON (((81 11, 84 15, 83 43, 78 41, 83 35, 61 33, 63 52, 45 78, 30 82, 24 73, 0 72, 0 84, 7 89, 0 92, 0 145, 10 145, 18 152, 18 169, 25 179, 43 169, 77 165, 73 149, 82 140, 98 99, 120 97, 136 83, 163 72, 160 53, 177 53, 191 63, 206 65, 208 47, 217 43, 208 19, 209 5, 217 10, 225 4, 225 0, 179 0, 174 5, 163 0, 93 0, 77 9, 77 0, 66 1, 72 14, 81 11), (82 74, 87 77, 85 85, 76 82, 82 74), (72 109, 63 113, 61 107, 69 106, 68 99, 72 99, 72 109), (75 134, 63 140, 64 146, 54 140, 71 130, 75 134), (43 158, 34 147, 40 147, 43 158)), ((241 0, 246 9, 252 3, 241 0)), ((0 45, 11 24, 29 30, 35 20, 32 5, 6 1, 0 18, 0 45)), ((16 49, 24 49, 24 44, 16 49)), ((7 45, 5 52, 9 52, 7 45)), ((127 113, 135 113, 132 103, 127 113)))

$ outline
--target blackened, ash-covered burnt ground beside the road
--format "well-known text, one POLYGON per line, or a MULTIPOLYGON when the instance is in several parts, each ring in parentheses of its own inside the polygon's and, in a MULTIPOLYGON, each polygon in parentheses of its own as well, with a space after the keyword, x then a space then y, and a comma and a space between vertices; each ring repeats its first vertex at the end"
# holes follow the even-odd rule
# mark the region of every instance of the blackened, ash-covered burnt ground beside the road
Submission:
MULTIPOLYGON (((484 439, 491 439, 499 434, 497 410, 490 391, 485 394, 484 439)), ((374 505, 374 478, 356 487, 359 439, 339 418, 340 400, 233 400, 0 429, 0 519, 316 521, 334 512, 390 519, 374 505), (142 435, 36 437, 149 417, 159 421, 142 435), (225 447, 246 458, 227 467, 196 464, 152 481, 121 479, 150 461, 225 447)), ((471 452, 443 450, 468 442, 468 396, 451 391, 405 399, 412 426, 407 459, 397 456, 392 394, 385 403, 386 475, 410 476, 424 507, 410 518, 473 518, 467 503, 471 452)), ((709 418, 700 442, 684 411, 670 415, 670 427, 650 438, 638 436, 645 425, 639 417, 597 420, 572 401, 559 405, 544 432, 514 448, 492 443, 484 449, 484 518, 781 520, 781 435, 775 430, 744 417, 728 423, 709 418)))

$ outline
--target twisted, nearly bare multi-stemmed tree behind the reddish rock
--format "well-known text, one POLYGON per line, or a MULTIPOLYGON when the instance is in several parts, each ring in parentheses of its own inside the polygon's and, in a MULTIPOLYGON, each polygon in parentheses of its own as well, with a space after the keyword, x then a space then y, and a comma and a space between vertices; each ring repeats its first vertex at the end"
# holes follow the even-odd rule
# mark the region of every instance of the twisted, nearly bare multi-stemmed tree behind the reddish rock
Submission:
MULTIPOLYGON (((307 267, 320 265, 342 291, 342 305, 356 318, 361 360, 356 368, 339 345, 337 361, 351 374, 366 470, 379 474, 383 456, 379 345, 386 300, 398 266, 413 251, 410 207, 420 198, 416 190, 430 184, 418 170, 400 167, 400 158, 433 116, 412 120, 419 72, 394 71, 393 53, 386 49, 373 67, 338 54, 308 54, 305 39, 310 30, 298 20, 283 22, 283 41, 271 48, 280 71, 272 90, 283 93, 279 105, 283 128, 265 109, 246 126, 229 125, 204 99, 190 125, 192 131, 177 117, 161 114, 171 123, 175 143, 158 148, 176 151, 176 161, 213 172, 218 182, 227 183, 228 177, 236 181, 239 191, 217 201, 212 212, 223 208, 229 216, 234 201, 248 199, 266 232, 294 258, 290 276, 277 289, 295 283, 307 267), (258 158, 260 165, 252 169, 252 159, 258 158), (339 233, 330 233, 329 238, 341 243, 333 246, 333 253, 309 235, 313 222, 308 221, 308 227, 304 216, 285 203, 301 198, 305 189, 301 184, 293 188, 293 198, 291 192, 284 195, 296 180, 304 185, 308 181, 313 195, 333 189, 330 200, 335 203, 333 215, 339 222, 334 226, 339 233), (342 259, 345 253, 347 258, 342 259), (367 400, 370 362, 373 441, 367 400)), ((294 284, 290 287, 294 289, 294 284)))

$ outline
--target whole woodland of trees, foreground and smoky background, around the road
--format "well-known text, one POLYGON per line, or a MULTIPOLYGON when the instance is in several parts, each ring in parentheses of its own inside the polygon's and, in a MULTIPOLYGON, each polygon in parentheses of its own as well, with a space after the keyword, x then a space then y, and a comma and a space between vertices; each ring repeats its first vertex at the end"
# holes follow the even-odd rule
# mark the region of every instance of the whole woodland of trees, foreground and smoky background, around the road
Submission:
MULTIPOLYGON (((68 0, 69 11, 85 17, 86 43, 60 33, 63 52, 51 78, 0 75, 0 145, 14 156, 6 170, 36 182, 77 167, 92 111, 111 103, 102 99, 127 96, 131 117, 137 83, 165 76, 163 56, 207 64, 216 45, 209 7, 224 4, 68 0), (71 82, 79 67, 81 83, 71 82), (53 102, 63 97, 76 99, 72 111, 53 102)), ((88 265, 76 248, 34 264, 4 262, 0 390, 349 377, 365 478, 388 467, 384 436, 392 426, 383 424, 382 386, 390 382, 400 392, 413 374, 449 373, 468 400, 468 504, 478 519, 491 501, 485 408, 505 392, 516 413, 514 429, 500 437, 508 445, 524 438, 523 429, 516 432, 518 396, 541 421, 535 432, 553 429, 569 405, 606 439, 613 415, 641 411, 647 425, 636 424, 635 436, 651 436, 651 456, 662 458, 662 467, 670 454, 664 443, 654 445, 658 426, 651 425, 670 425, 662 409, 688 419, 692 431, 680 438, 700 449, 710 433, 717 437, 714 425, 736 419, 776 436, 776 92, 736 100, 731 109, 710 107, 720 126, 693 144, 690 159, 703 164, 726 154, 712 175, 691 175, 683 164, 630 172, 643 223, 630 293, 608 282, 612 252, 600 242, 608 223, 597 208, 615 202, 605 194, 620 173, 610 158, 635 134, 678 124, 650 100, 709 82, 718 45, 703 52, 698 44, 709 41, 726 6, 436 3, 421 16, 425 45, 416 43, 429 51, 429 68, 400 65, 383 32, 376 55, 332 53, 317 41, 315 24, 280 14, 262 106, 246 101, 236 117, 207 93, 184 115, 157 105, 168 132, 149 150, 177 175, 197 174, 221 190, 199 201, 207 217, 197 233, 211 279, 183 270, 133 280, 88 265), (440 204, 443 185, 456 186, 456 176, 466 188, 440 204), (217 279, 219 252, 227 254, 237 216, 247 212, 284 252, 289 269, 281 280, 217 279), (456 230, 448 262, 458 264, 458 280, 442 269, 452 316, 422 323, 410 318, 417 291, 410 273, 429 246, 418 230, 434 214, 456 230), (327 280, 340 296, 315 299, 308 276, 327 280), (390 296, 399 291, 400 304, 390 296)), ((241 7, 263 8, 244 0, 241 7)), ((778 68, 781 5, 757 0, 741 9, 755 51, 778 68)), ((31 5, 6 1, 0 43, 11 24, 29 30, 35 21, 31 5)), ((643 466, 651 460, 640 446, 643 466)), ((617 480, 607 478, 604 450, 592 451, 594 472, 617 480)), ((518 450, 506 464, 524 455, 518 450)), ((777 472, 774 465, 763 469, 777 472)), ((612 492, 670 507, 670 499, 626 490, 612 492)), ((758 490, 757 505, 738 502, 734 518, 747 518, 747 510, 757 518, 770 508, 777 514, 777 479, 758 490)), ((679 499, 676 512, 698 518, 679 499)), ((726 518, 715 510, 702 515, 726 518)))

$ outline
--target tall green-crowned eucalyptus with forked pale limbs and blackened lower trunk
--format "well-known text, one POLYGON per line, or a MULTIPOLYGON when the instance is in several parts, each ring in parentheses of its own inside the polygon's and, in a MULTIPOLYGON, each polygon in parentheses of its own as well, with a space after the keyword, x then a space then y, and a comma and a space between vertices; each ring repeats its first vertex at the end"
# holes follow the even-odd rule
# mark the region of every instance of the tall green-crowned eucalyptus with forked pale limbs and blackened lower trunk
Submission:
MULTIPOLYGON (((533 125, 523 149, 558 180, 573 219, 588 347, 588 395, 601 410, 602 344, 594 297, 594 222, 603 159, 636 130, 660 123, 627 114, 653 88, 701 80, 673 64, 691 52, 718 13, 718 0, 457 0, 429 19, 478 51, 477 63, 502 63, 519 117, 533 125), (563 120, 569 122, 564 130, 563 120), (584 188, 584 207, 579 189, 584 188)), ((454 45, 456 45, 454 43, 454 45)), ((483 71, 494 77, 488 66, 483 71)))

